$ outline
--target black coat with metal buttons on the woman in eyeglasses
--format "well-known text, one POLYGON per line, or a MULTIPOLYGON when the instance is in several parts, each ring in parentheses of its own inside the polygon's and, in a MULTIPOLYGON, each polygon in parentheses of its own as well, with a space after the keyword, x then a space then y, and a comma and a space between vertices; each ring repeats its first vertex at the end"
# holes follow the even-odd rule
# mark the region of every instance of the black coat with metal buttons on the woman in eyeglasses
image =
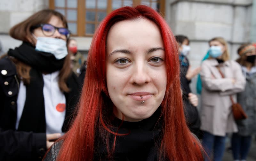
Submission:
MULTIPOLYGON (((62 132, 68 130, 80 93, 80 83, 76 75, 72 73, 68 80, 72 82, 72 85, 67 84, 68 87, 76 88, 72 88, 69 93, 64 93, 67 108, 62 132)), ((42 160, 46 151, 45 127, 38 126, 38 131, 26 132, 17 131, 15 128, 19 84, 15 64, 8 57, 0 59, 0 160, 42 160)), ((41 117, 45 116, 40 113, 36 116, 36 118, 41 117)))

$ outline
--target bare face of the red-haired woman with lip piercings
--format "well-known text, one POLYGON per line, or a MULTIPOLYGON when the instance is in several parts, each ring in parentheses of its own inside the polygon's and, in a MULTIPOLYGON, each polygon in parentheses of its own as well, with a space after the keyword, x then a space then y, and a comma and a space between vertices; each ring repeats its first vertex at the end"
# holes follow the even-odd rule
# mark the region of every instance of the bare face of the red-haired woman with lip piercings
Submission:
POLYGON ((107 87, 117 118, 150 117, 164 99, 167 74, 163 40, 148 19, 114 24, 107 37, 107 87))

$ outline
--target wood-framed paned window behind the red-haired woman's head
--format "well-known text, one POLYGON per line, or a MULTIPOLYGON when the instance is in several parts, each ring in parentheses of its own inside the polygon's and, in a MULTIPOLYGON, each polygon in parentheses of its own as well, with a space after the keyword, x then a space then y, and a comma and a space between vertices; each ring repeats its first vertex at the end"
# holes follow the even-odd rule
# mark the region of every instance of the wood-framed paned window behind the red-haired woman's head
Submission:
POLYGON ((62 13, 73 36, 92 36, 111 11, 144 4, 164 15, 165 0, 49 0, 50 9, 62 13))

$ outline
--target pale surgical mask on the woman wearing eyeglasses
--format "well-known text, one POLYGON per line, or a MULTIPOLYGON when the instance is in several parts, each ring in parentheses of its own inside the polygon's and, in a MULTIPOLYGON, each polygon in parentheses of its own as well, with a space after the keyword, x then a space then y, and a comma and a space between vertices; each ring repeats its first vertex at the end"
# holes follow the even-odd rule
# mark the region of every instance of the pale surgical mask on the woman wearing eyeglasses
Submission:
POLYGON ((37 51, 52 53, 56 59, 62 59, 68 55, 67 42, 65 40, 52 37, 34 37, 37 40, 37 51))

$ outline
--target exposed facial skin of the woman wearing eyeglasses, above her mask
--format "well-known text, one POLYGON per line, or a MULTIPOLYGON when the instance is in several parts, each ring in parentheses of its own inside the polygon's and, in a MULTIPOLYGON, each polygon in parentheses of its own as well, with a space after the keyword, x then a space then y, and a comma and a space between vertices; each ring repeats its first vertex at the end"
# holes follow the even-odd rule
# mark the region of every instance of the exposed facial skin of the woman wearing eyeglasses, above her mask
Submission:
MULTIPOLYGON (((55 26, 55 27, 64 27, 63 26, 63 22, 61 21, 60 18, 58 18, 57 16, 52 16, 51 19, 49 20, 48 24, 52 25, 52 26, 55 26)), ((60 34, 59 31, 56 29, 54 34, 52 36, 46 36, 41 27, 38 27, 36 28, 34 31, 33 31, 33 34, 36 36, 36 37, 52 37, 52 38, 59 38, 59 39, 63 39, 63 40, 67 40, 66 36, 63 35, 63 34, 60 34)), ((35 42, 36 44, 36 42, 35 42)))

